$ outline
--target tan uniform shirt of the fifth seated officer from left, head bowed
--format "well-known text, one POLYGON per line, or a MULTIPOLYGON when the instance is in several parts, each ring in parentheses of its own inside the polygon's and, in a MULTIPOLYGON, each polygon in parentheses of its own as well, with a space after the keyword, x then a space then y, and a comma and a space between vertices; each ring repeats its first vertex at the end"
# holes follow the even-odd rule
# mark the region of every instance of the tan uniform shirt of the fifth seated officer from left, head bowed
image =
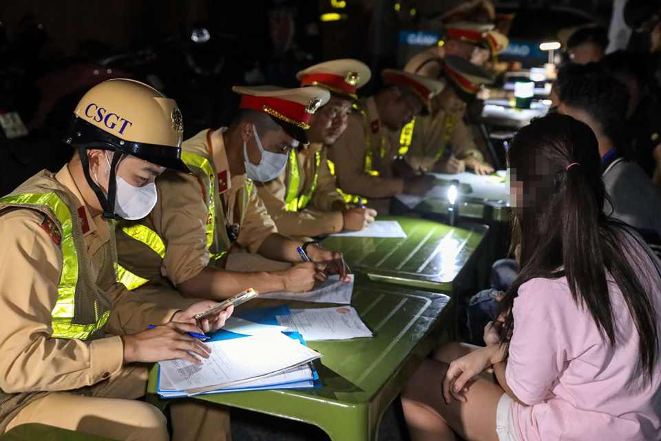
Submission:
POLYGON ((448 113, 439 110, 433 117, 416 116, 411 144, 405 156, 408 165, 416 170, 431 171, 440 158, 448 155, 448 148, 458 159, 474 155, 483 161, 470 127, 463 122, 464 114, 462 110, 454 114, 454 119, 449 119, 448 113))

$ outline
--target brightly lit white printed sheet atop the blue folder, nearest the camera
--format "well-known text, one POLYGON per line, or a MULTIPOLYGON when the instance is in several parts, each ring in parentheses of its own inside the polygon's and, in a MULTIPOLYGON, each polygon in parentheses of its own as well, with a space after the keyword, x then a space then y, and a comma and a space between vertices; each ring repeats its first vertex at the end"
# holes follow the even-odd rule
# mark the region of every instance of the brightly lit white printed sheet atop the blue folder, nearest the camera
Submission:
MULTIPOLYGON (((187 360, 159 362, 161 373, 177 390, 224 387, 291 369, 321 357, 317 351, 281 332, 208 342, 209 358, 194 365, 187 360)), ((194 392, 195 390, 193 390, 194 392)))

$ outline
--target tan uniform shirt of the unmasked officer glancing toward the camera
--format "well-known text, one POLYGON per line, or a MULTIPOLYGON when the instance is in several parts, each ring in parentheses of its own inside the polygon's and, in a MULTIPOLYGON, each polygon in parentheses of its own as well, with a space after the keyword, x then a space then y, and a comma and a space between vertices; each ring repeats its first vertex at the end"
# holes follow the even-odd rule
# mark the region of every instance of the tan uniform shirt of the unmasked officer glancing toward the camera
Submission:
POLYGON ((317 187, 306 207, 300 211, 288 211, 286 197, 291 186, 291 163, 273 181, 255 183, 266 210, 275 221, 277 231, 285 236, 319 236, 342 230, 342 212, 337 207, 347 207, 342 195, 337 192, 335 178, 328 169, 328 147, 311 144, 296 152, 299 182, 296 195, 308 196, 317 173, 317 187), (319 169, 315 154, 319 152, 319 169))

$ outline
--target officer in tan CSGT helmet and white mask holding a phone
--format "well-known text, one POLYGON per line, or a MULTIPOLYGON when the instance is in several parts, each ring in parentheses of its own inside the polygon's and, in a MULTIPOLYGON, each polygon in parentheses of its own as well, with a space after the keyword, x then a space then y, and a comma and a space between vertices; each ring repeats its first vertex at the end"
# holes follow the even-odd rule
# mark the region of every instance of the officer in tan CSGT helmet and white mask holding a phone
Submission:
MULTIPOLYGON (((222 327, 232 309, 196 322, 216 303, 180 311, 140 302, 116 283, 112 225, 156 203, 166 167, 187 172, 182 131, 174 100, 137 81, 106 81, 76 107, 71 161, 0 198, 0 433, 39 422, 169 440, 160 411, 133 401, 147 390, 145 363, 208 358, 188 333, 222 327)), ((210 404, 174 402, 171 411, 175 440, 226 433, 210 404)))

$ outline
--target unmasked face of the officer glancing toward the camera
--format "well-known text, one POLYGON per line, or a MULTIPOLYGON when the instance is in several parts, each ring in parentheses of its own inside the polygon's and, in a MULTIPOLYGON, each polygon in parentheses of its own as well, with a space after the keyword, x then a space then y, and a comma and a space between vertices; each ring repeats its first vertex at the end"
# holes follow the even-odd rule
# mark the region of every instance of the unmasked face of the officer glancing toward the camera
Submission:
POLYGON ((330 101, 310 116, 310 142, 333 145, 346 129, 350 113, 351 101, 331 95, 330 101))

